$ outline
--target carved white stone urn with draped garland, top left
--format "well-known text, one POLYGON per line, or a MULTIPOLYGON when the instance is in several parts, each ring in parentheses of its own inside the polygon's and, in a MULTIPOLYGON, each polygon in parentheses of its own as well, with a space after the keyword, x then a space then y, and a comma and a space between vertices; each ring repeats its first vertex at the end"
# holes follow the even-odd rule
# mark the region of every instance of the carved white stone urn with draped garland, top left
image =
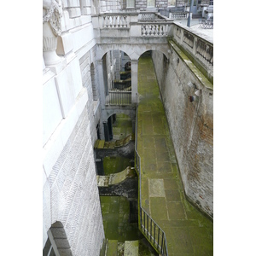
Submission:
POLYGON ((57 37, 61 35, 61 0, 43 1, 43 55, 46 66, 55 65, 61 61, 56 54, 57 37))

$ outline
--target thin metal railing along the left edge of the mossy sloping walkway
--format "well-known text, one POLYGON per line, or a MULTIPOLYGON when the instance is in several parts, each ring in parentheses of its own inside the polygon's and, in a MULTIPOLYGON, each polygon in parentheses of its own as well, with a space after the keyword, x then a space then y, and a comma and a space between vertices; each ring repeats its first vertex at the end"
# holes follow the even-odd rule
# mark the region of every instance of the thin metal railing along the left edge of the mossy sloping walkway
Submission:
POLYGON ((166 234, 164 230, 160 228, 158 224, 151 218, 142 207, 142 176, 141 176, 141 157, 137 152, 137 113, 138 113, 138 102, 136 111, 136 129, 135 129, 135 152, 136 159, 135 164, 137 172, 139 173, 140 179, 140 212, 139 212, 139 228, 143 235, 148 239, 151 245, 160 253, 162 256, 168 256, 168 249, 166 243, 166 234))

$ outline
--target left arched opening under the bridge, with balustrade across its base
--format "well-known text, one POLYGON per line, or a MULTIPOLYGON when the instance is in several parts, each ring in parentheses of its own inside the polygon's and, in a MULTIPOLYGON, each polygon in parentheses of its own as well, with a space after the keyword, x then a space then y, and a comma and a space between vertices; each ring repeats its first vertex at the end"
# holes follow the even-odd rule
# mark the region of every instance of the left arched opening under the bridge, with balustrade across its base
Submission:
POLYGON ((130 57, 122 50, 112 49, 102 59, 106 105, 131 105, 131 68, 126 68, 129 61, 131 67, 130 57))

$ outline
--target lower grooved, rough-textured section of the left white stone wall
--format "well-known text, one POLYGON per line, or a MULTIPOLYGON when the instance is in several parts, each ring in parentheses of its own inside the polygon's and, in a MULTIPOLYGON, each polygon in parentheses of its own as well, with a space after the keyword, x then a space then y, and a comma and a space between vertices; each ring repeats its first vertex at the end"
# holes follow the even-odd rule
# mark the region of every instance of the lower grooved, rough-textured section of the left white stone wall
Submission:
POLYGON ((44 183, 44 232, 55 221, 64 225, 73 255, 99 254, 104 231, 87 108, 44 183))

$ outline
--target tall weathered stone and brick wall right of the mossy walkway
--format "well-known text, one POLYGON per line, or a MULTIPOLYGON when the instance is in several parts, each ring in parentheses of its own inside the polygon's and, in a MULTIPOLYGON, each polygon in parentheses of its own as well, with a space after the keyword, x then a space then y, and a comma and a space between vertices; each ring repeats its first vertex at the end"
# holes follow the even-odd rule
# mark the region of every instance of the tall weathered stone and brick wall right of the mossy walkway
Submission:
POLYGON ((213 85, 177 45, 170 44, 170 50, 169 61, 157 51, 152 56, 183 187, 213 218, 213 85), (196 90, 201 96, 189 102, 196 90))

